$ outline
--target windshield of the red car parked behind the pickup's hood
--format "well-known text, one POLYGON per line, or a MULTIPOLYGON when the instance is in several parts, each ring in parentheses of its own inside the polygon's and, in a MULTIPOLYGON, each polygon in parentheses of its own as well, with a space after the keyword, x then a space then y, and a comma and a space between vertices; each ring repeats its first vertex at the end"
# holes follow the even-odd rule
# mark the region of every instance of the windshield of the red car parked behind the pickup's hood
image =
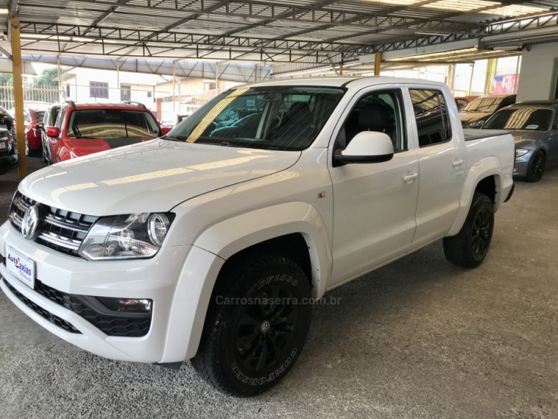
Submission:
POLYGON ((122 109, 74 110, 66 135, 70 138, 157 138, 156 120, 149 112, 122 109))

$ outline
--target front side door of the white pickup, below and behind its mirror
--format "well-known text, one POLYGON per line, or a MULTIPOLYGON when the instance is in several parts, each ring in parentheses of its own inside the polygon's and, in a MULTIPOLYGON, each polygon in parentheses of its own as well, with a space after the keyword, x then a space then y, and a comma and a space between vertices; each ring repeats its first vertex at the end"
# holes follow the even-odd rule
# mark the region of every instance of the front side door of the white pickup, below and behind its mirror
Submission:
POLYGON ((382 163, 331 167, 333 180, 333 272, 331 284, 356 277, 411 245, 418 195, 418 160, 407 143, 405 105, 399 87, 363 91, 335 139, 344 149, 360 131, 382 131, 394 156, 382 163))

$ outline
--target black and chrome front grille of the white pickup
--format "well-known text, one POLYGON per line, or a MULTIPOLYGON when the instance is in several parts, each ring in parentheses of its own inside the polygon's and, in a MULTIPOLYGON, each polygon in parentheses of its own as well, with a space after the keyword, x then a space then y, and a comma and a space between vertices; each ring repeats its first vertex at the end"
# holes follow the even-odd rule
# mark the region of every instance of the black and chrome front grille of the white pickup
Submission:
POLYGON ((61 253, 80 257, 77 251, 97 217, 43 205, 17 191, 8 218, 20 233, 23 217, 31 205, 40 205, 46 213, 40 220, 35 242, 61 253))

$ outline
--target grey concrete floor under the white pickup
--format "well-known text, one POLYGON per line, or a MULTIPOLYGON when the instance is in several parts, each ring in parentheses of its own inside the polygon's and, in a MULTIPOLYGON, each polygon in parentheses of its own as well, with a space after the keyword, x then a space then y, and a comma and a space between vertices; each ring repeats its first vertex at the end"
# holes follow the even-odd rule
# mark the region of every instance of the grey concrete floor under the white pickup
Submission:
MULTIPOLYGON (((40 159, 31 159, 38 168, 40 159)), ((17 185, 0 175, 0 213, 17 185)), ((278 387, 252 399, 178 371, 106 360, 0 293, 0 418, 557 418, 558 169, 518 182, 481 267, 442 243, 329 295, 278 387)))

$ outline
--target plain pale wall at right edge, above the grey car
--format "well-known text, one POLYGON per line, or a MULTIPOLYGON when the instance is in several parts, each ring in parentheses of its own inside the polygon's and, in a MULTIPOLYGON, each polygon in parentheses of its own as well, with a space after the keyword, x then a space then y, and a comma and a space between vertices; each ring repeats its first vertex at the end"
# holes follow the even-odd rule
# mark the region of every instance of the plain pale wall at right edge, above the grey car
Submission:
POLYGON ((518 101, 553 99, 558 78, 558 42, 523 50, 518 101))

